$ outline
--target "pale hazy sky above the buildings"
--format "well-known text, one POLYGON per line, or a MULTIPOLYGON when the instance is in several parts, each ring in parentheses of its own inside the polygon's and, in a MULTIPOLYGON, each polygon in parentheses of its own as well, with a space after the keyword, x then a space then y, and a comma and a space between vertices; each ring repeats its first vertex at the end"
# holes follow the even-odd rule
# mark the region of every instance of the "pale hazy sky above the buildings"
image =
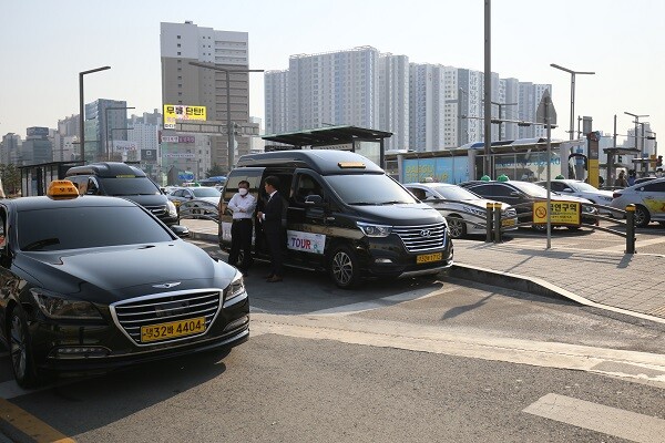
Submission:
MULTIPOLYGON (((103 65, 112 69, 85 76, 86 103, 160 109, 160 22, 248 32, 250 69, 371 45, 483 71, 483 0, 2 0, 0 134, 24 138, 28 126, 78 114, 79 72, 103 65)), ((627 111, 665 131, 664 18, 663 0, 493 0, 492 71, 552 84, 557 138, 569 137, 571 75, 550 63, 596 72, 575 87, 575 116, 593 116, 594 130, 612 133, 617 114, 625 134, 627 111)), ((263 91, 263 74, 250 74, 250 114, 262 119, 263 91)))

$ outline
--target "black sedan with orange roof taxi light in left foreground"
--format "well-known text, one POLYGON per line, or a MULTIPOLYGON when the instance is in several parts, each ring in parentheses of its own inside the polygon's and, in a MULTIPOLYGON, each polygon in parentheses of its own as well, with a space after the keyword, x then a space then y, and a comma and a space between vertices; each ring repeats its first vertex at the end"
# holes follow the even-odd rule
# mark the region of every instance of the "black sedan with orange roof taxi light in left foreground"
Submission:
POLYGON ((132 202, 53 183, 0 200, 0 340, 19 385, 247 339, 241 272, 132 202))

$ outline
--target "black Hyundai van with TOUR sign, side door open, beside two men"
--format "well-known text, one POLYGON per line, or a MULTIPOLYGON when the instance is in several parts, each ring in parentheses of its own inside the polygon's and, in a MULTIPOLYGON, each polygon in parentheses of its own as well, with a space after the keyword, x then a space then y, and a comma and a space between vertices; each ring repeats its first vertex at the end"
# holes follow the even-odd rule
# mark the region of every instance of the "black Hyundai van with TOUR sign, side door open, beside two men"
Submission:
MULTIPOLYGON (((360 278, 433 275, 452 266, 446 219, 420 203, 366 157, 346 151, 294 150, 244 155, 221 197, 219 246, 231 247, 225 210, 241 181, 249 182, 258 209, 267 176, 288 197, 283 215, 286 266, 327 270, 340 288, 360 278)), ((255 223, 255 258, 269 259, 255 223)))

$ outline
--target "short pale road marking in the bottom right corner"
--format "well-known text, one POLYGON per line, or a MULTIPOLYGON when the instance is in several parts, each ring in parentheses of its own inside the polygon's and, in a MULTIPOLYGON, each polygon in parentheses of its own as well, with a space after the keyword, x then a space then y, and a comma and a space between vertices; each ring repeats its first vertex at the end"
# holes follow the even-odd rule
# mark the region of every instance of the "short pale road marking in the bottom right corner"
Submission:
POLYGON ((553 393, 523 412, 633 442, 661 442, 665 435, 665 420, 553 393))

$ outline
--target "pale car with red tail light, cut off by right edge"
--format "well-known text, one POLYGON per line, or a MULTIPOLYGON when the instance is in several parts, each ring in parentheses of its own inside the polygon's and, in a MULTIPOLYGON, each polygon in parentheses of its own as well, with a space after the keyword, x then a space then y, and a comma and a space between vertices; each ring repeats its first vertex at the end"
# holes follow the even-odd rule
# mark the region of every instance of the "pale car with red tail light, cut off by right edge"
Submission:
POLYGON ((635 226, 644 227, 649 222, 665 224, 665 177, 614 192, 612 207, 625 210, 631 204, 635 205, 635 226))

